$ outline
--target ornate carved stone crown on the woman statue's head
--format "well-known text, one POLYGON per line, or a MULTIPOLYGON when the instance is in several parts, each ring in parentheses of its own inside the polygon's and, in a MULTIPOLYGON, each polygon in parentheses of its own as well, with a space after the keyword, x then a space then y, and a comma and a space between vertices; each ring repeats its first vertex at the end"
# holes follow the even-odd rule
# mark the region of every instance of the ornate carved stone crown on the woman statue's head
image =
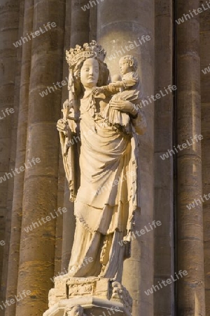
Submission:
POLYGON ((83 44, 83 48, 76 45, 75 48, 70 48, 69 51, 66 51, 66 60, 69 67, 76 65, 78 60, 90 57, 97 57, 99 60, 102 60, 102 62, 106 57, 106 51, 104 51, 102 46, 98 45, 94 40, 90 43, 83 44))

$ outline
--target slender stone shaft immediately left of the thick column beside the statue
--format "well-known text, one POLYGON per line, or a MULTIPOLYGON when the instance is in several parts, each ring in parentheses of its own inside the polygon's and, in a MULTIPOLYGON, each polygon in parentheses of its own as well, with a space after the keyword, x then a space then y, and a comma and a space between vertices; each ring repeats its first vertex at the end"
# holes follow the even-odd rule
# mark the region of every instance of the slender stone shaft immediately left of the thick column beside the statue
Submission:
MULTIPOLYGON (((33 31, 34 18, 34 0, 22 1, 24 29, 19 31, 19 38, 26 37, 27 33, 33 31)), ((22 65, 20 75, 20 107, 18 112, 18 137, 17 137, 17 152, 15 158, 15 168, 24 166, 26 145, 27 145, 27 120, 29 106, 29 80, 31 71, 31 44, 32 41, 27 41, 22 44, 22 65)), ((11 218, 11 236, 10 236, 10 252, 6 298, 10 300, 17 294, 18 285, 18 267, 20 259, 20 232, 22 224, 22 198, 24 186, 25 171, 16 174, 14 178, 13 190, 13 211, 11 218)), ((16 305, 11 304, 6 308, 6 316, 15 316, 16 305)))

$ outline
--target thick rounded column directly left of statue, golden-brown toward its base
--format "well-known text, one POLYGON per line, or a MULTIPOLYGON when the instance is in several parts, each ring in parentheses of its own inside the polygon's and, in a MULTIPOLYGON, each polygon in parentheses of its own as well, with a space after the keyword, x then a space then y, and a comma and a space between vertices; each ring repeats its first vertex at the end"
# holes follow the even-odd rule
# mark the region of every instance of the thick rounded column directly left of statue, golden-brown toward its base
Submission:
POLYGON ((48 308, 50 277, 55 265, 55 209, 60 117, 65 1, 34 1, 31 48, 27 168, 22 205, 18 290, 31 294, 21 300, 16 316, 42 315, 48 308), (41 27, 41 29, 40 29, 41 27), (41 96, 43 91, 47 95, 41 96), (29 162, 35 158, 36 164, 29 162), (40 159, 40 162, 38 162, 40 159), (53 216, 53 217, 52 217, 53 216), (34 225, 32 225, 34 223, 34 225), (36 224, 35 224, 36 223, 36 224), (27 227, 32 230, 27 232, 27 227))

